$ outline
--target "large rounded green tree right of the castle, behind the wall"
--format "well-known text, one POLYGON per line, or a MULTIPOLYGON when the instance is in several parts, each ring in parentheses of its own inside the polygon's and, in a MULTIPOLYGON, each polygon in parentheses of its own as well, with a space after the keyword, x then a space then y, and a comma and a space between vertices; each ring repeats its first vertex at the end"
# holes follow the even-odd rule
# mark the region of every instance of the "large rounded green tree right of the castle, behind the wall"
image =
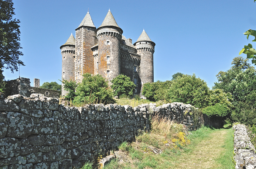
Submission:
POLYGON ((206 82, 196 78, 196 75, 193 74, 182 75, 182 77, 173 80, 166 95, 170 102, 182 102, 203 108, 208 105, 210 91, 206 82))

